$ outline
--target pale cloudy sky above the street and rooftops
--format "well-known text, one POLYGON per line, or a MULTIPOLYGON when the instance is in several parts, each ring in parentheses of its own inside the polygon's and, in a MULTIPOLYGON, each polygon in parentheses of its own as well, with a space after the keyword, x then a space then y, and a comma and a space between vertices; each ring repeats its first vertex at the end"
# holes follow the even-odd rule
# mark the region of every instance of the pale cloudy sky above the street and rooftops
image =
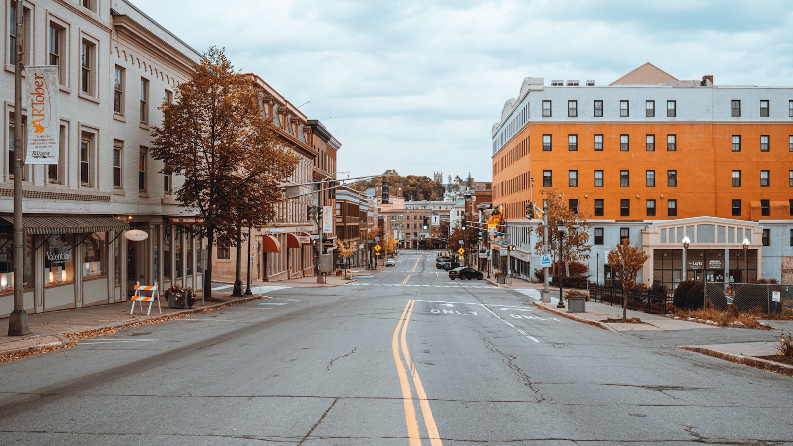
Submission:
POLYGON ((492 124, 527 76, 606 85, 651 62, 717 85, 793 85, 789 0, 131 0, 225 47, 343 144, 352 177, 490 181, 492 124))

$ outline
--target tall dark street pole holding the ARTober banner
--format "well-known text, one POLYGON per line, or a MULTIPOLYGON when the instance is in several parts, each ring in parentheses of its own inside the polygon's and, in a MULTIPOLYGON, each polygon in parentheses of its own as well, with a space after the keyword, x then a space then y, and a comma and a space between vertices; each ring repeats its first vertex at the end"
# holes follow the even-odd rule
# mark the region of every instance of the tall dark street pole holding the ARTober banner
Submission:
POLYGON ((23 256, 25 235, 22 230, 22 0, 17 0, 17 15, 14 17, 17 40, 16 70, 13 77, 13 311, 8 321, 9 336, 30 334, 28 314, 22 288, 25 286, 23 256))

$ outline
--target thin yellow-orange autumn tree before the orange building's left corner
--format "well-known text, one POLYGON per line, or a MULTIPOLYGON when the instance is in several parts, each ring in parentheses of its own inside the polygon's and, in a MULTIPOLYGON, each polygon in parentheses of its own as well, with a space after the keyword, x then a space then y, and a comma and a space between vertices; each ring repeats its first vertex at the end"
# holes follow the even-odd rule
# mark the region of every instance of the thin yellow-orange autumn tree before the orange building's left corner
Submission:
MULTIPOLYGON (((562 264, 567 265, 571 261, 584 261, 589 258, 589 253, 592 251, 592 245, 589 244, 589 218, 592 216, 587 208, 570 209, 565 206, 562 197, 559 196, 557 189, 549 188, 542 189, 542 197, 546 205, 546 217, 548 221, 548 243, 550 246, 559 248, 559 223, 565 223, 565 236, 564 242, 564 256, 562 264), (573 229, 575 228, 575 229, 573 229)), ((544 226, 542 220, 537 225, 538 237, 537 243, 534 244, 534 253, 542 254, 543 247, 543 234, 544 226)), ((554 252, 550 250, 549 252, 554 252)), ((558 254, 554 254, 557 258, 558 254)), ((560 265, 561 268, 561 265, 560 265)), ((565 272, 569 275, 569 271, 565 272)))

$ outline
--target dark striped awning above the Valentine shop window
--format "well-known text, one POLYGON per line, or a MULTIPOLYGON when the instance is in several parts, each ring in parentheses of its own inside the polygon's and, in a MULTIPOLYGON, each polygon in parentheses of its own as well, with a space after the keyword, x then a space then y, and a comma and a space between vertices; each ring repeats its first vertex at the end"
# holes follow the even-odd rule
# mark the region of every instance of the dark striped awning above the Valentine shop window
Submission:
MULTIPOLYGON (((13 224, 13 215, 0 215, 13 224)), ((129 225, 113 217, 75 215, 23 215, 26 234, 85 234, 89 232, 127 231, 129 225)))

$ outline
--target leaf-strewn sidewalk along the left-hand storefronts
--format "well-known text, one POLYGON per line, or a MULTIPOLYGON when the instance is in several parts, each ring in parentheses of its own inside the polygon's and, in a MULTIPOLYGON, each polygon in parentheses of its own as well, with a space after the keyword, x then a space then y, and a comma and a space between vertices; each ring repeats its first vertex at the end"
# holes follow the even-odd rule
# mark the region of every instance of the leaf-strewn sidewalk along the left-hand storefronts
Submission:
MULTIPOLYGON (((291 288, 313 288, 313 287, 338 287, 339 285, 354 282, 345 280, 343 277, 331 275, 325 276, 326 283, 316 283, 316 276, 301 277, 293 280, 281 280, 278 282, 262 282, 260 280, 251 281, 251 291, 256 287, 291 287, 291 288)), ((213 282, 233 284, 231 277, 213 276, 213 282)), ((246 288, 243 282, 243 292, 246 288)), ((173 318, 180 314, 198 313, 201 311, 211 311, 213 308, 224 305, 234 305, 249 300, 258 299, 260 296, 255 292, 250 296, 232 296, 232 288, 223 288, 212 292, 212 300, 206 301, 201 305, 201 299, 193 304, 193 308, 184 310, 180 308, 167 308, 168 301, 163 296, 160 298, 162 314, 160 314, 155 302, 151 306, 150 315, 146 315, 148 303, 144 305, 141 313, 138 303, 135 305, 134 314, 129 314, 132 309, 132 302, 108 303, 93 307, 73 308, 71 310, 49 311, 46 313, 29 314, 28 323, 30 334, 25 336, 8 336, 9 318, 0 318, 0 356, 17 355, 21 353, 34 352, 39 350, 56 349, 62 345, 69 345, 71 341, 63 334, 81 333, 88 330, 103 330, 127 326, 136 322, 154 321, 161 318, 173 318)))

